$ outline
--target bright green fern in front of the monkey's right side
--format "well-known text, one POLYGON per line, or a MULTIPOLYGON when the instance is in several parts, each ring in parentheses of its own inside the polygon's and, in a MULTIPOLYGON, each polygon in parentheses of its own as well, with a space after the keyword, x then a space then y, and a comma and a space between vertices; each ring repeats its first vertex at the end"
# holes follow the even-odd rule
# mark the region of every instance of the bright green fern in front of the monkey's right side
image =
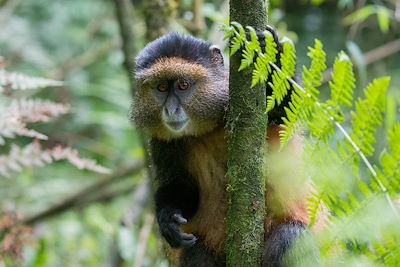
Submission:
POLYGON ((364 97, 354 97, 355 77, 349 57, 340 52, 334 62, 329 82, 330 97, 320 96, 326 70, 322 43, 309 48, 309 67, 302 68, 301 85, 295 81, 295 49, 284 40, 280 62, 276 44, 265 32, 266 52, 261 51, 255 31, 233 23, 225 27, 231 40, 231 52, 242 51, 239 69, 253 67, 253 86, 267 85, 271 75, 272 94, 266 111, 279 105, 290 94, 285 107, 286 118, 280 132, 284 146, 305 127, 307 175, 317 188, 309 198, 309 215, 313 224, 319 218, 321 203, 330 211, 328 226, 316 239, 323 265, 385 265, 400 262, 399 205, 400 192, 400 123, 386 134, 387 147, 380 160, 376 154, 376 131, 383 121, 386 90, 390 78, 373 80, 364 97))

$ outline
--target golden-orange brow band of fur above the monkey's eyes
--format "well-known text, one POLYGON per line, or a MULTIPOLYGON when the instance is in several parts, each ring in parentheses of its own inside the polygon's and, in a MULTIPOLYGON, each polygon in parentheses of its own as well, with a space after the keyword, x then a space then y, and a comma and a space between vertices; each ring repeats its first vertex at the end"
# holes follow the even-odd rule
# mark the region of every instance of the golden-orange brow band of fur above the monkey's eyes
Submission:
POLYGON ((208 73, 202 65, 178 57, 160 58, 150 68, 136 73, 136 79, 143 83, 147 80, 179 77, 193 77, 199 80, 206 79, 208 73))

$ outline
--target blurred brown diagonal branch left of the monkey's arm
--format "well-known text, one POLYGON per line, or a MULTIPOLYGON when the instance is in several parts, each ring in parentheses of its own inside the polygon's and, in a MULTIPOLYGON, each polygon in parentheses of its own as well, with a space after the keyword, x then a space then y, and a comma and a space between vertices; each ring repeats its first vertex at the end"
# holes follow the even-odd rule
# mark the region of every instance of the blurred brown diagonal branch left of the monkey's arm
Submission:
POLYGON ((107 175, 100 181, 98 181, 92 185, 89 185, 88 187, 84 188, 83 190, 79 191, 78 193, 68 197, 64 201, 62 201, 58 204, 55 204, 54 206, 52 206, 42 212, 39 212, 31 217, 26 218, 21 223, 26 224, 26 225, 32 225, 32 224, 35 224, 44 219, 48 219, 57 214, 60 214, 72 207, 75 207, 82 201, 82 199, 86 198, 88 195, 118 181, 119 179, 121 179, 123 177, 126 177, 128 175, 132 175, 134 173, 139 172, 143 168, 143 166, 144 166, 143 162, 138 161, 129 167, 126 167, 126 168, 123 168, 123 169, 117 171, 114 174, 107 175))

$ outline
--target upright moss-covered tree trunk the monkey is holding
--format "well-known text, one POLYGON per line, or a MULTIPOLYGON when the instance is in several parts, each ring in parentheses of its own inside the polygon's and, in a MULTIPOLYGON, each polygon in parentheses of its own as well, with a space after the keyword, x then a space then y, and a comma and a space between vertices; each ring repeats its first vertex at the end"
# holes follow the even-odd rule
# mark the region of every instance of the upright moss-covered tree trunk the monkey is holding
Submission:
MULTIPOLYGON (((231 0, 230 21, 262 31, 267 1, 231 0)), ((227 266, 261 266, 264 246, 266 147, 265 88, 251 88, 251 70, 238 72, 241 55, 230 57, 227 111, 227 266)))

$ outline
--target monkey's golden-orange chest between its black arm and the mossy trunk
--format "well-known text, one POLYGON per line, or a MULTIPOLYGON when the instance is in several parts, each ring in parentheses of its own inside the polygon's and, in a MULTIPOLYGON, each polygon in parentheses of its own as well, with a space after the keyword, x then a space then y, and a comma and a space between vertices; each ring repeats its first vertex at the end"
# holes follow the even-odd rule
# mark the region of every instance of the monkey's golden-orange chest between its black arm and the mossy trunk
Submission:
POLYGON ((203 238, 215 251, 223 250, 226 216, 227 169, 223 135, 211 136, 191 149, 189 172, 199 186, 199 207, 184 230, 203 238))

